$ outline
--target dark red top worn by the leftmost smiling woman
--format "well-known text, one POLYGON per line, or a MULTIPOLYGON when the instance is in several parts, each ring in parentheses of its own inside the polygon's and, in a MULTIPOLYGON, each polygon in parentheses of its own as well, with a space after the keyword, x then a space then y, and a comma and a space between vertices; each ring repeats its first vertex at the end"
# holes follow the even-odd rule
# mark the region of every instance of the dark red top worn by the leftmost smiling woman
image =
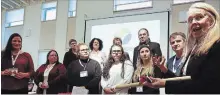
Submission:
MULTIPOLYGON (((1 71, 5 69, 13 68, 12 60, 2 58, 1 71)), ((34 64, 31 55, 27 52, 21 53, 15 61, 14 68, 18 68, 18 72, 30 73, 30 76, 34 74, 34 64)), ((5 90, 17 90, 28 87, 28 78, 17 79, 12 76, 2 75, 1 89, 5 90)))

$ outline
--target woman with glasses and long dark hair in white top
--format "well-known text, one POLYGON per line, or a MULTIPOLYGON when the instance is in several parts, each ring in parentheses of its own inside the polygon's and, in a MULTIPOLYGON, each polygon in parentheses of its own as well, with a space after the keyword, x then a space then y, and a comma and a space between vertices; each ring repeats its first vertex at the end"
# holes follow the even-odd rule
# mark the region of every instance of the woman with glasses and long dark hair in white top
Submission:
POLYGON ((128 88, 114 88, 119 84, 130 83, 133 72, 133 65, 125 58, 123 48, 120 45, 111 46, 101 79, 103 92, 105 94, 127 94, 128 88))

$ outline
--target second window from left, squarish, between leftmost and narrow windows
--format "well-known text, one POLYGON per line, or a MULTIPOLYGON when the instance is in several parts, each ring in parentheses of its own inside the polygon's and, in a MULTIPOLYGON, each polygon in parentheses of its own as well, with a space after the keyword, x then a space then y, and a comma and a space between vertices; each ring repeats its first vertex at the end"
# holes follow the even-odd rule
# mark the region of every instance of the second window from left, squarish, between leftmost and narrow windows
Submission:
POLYGON ((57 7, 57 2, 43 3, 41 21, 56 19, 56 12, 57 12, 56 7, 57 7))

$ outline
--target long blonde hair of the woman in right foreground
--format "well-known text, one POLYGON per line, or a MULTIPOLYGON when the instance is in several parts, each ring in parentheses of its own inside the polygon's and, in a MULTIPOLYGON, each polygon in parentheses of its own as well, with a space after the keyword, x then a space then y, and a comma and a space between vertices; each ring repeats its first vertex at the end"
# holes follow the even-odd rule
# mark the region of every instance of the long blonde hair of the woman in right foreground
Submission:
MULTIPOLYGON (((220 30, 219 30, 219 14, 215 10, 214 7, 212 7, 209 4, 206 3, 195 3, 190 8, 196 8, 196 9, 203 9, 205 10, 206 14, 211 18, 212 25, 210 26, 210 29, 208 32, 202 37, 199 41, 196 42, 196 39, 192 37, 190 34, 190 30, 188 30, 188 41, 187 41, 187 47, 186 47, 186 55, 189 54, 189 52, 192 50, 195 44, 197 46, 195 47, 194 54, 200 55, 200 54, 206 54, 208 53, 208 50, 211 48, 211 46, 216 42, 220 40, 220 30)), ((186 56, 185 55, 185 56, 186 56)))

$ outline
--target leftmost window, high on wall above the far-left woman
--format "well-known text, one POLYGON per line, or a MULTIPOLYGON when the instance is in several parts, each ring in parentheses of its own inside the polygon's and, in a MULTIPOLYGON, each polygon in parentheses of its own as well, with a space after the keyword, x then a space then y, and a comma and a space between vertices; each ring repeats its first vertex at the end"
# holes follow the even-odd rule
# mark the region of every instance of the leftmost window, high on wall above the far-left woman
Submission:
POLYGON ((24 20, 24 8, 6 12, 5 27, 22 25, 24 20))

